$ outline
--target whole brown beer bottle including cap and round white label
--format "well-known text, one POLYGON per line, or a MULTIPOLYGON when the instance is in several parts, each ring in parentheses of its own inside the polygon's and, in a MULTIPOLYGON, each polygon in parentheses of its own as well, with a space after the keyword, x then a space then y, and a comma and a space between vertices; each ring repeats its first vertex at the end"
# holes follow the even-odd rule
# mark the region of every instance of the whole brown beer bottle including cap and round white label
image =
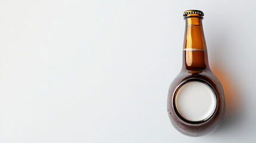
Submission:
POLYGON ((202 27, 203 12, 189 10, 183 15, 186 20, 183 66, 169 86, 168 115, 172 125, 184 135, 202 136, 220 126, 225 112, 225 98, 220 81, 209 68, 202 27), (197 117, 206 110, 200 105, 207 107, 207 111, 197 117), (208 111, 208 107, 211 110, 208 111))

